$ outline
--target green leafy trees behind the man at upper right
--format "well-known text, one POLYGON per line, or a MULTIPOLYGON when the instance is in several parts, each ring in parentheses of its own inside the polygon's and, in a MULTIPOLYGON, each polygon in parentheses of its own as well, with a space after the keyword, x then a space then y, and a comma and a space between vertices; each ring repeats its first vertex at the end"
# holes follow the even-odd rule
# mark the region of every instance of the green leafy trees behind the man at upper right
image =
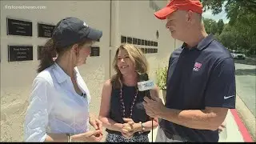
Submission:
MULTIPOLYGON (((215 34, 224 46, 232 50, 245 50, 247 55, 256 55, 255 0, 203 0, 202 5, 204 10, 212 10, 213 14, 219 14, 225 7, 230 22, 222 29, 222 22, 218 21, 218 34, 215 34)), ((210 20, 206 22, 210 22, 210 20)), ((206 28, 207 33, 214 27, 209 24, 205 26, 208 27, 206 28)))

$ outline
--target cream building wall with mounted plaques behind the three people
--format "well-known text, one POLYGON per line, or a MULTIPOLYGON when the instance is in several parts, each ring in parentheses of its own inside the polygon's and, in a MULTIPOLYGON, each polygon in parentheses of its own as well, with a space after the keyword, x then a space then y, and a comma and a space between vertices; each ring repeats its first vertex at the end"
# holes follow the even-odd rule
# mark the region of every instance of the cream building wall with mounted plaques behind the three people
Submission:
POLYGON ((181 46, 166 30, 166 21, 154 17, 166 2, 1 1, 1 141, 22 141, 27 100, 39 64, 38 47, 48 39, 47 29, 73 16, 102 30, 86 65, 79 66, 92 95, 90 110, 98 114, 102 85, 114 74, 112 61, 121 42, 134 43, 145 51, 154 81, 156 70, 166 66, 171 52, 181 46))

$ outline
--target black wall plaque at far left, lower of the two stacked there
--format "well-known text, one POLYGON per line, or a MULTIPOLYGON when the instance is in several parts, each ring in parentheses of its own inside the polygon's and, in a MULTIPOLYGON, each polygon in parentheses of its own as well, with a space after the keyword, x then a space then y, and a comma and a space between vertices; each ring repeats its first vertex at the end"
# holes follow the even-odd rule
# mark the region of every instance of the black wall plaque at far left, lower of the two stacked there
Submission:
POLYGON ((8 62, 32 60, 33 46, 8 46, 8 62))

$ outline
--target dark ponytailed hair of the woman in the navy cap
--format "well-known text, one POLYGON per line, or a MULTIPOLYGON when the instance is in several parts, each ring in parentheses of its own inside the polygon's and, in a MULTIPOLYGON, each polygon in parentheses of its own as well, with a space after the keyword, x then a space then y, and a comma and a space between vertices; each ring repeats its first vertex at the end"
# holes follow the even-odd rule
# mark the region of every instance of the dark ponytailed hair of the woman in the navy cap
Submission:
MULTIPOLYGON (((82 42, 78 42, 78 47, 81 47, 85 45, 86 43, 93 43, 91 39, 84 39, 82 42)), ((55 45, 56 42, 54 42, 53 38, 50 38, 45 46, 42 48, 42 59, 40 61, 40 64, 38 66, 38 73, 40 73, 42 70, 45 70, 46 68, 50 67, 54 64, 54 55, 57 54, 58 56, 62 55, 66 50, 70 50, 70 48, 74 45, 64 47, 58 47, 55 45)))

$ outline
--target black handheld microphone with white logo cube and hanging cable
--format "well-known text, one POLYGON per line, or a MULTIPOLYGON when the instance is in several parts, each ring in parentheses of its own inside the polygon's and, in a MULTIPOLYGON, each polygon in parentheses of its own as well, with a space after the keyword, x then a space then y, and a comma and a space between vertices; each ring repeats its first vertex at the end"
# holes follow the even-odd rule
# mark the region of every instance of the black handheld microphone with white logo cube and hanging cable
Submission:
MULTIPOLYGON (((140 74, 138 73, 138 91, 145 91, 146 97, 150 98, 150 90, 154 88, 154 82, 152 80, 149 80, 149 75, 146 73, 140 74)), ((152 121, 152 140, 153 142, 153 118, 151 118, 152 121)))

